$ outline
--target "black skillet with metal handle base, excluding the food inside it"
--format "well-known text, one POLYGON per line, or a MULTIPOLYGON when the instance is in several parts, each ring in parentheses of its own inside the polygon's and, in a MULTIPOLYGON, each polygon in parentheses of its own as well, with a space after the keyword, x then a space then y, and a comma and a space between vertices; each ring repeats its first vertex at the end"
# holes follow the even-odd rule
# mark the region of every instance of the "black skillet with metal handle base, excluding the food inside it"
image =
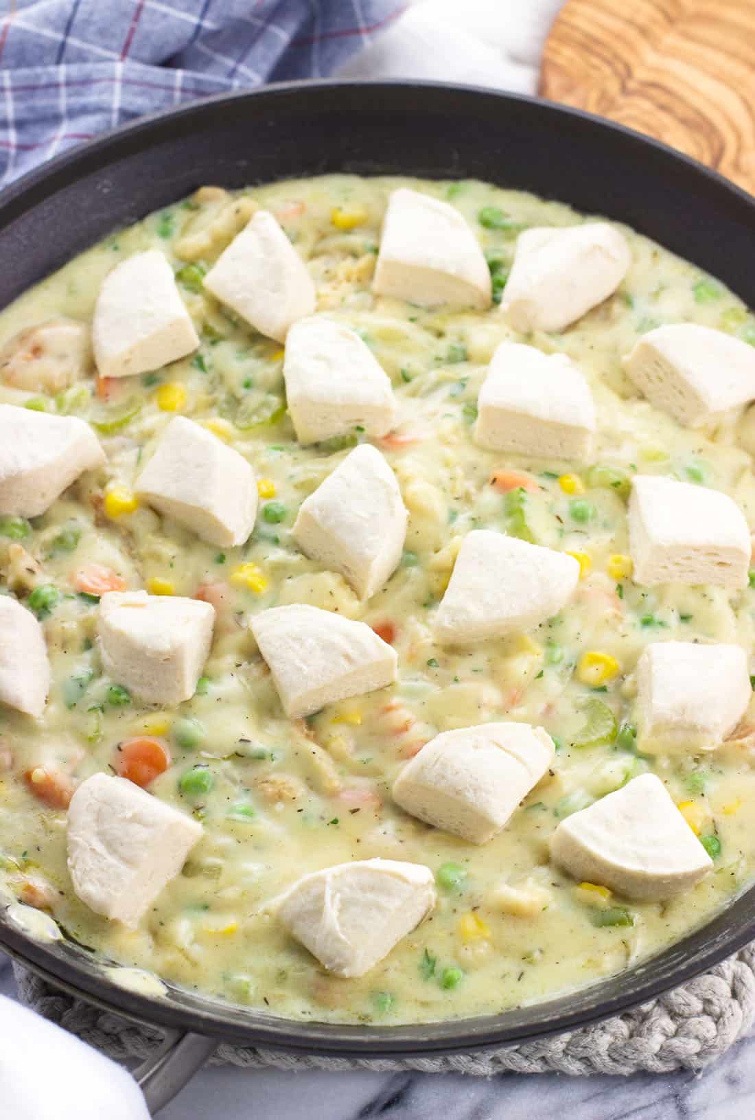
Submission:
MULTIPOLYGON (((272 86, 178 108, 74 149, 0 196, 0 307, 119 226, 201 184, 332 171, 487 179, 628 223, 755 306, 755 199, 635 132, 528 97, 420 83, 272 86)), ((755 842, 755 836, 754 836, 755 842)), ((140 1070, 153 1110, 218 1039, 300 1054, 417 1057, 531 1040, 653 999, 755 936, 755 887, 652 960, 558 999, 419 1027, 295 1023, 178 988, 125 991, 77 945, 44 944, 0 911, 0 944, 100 1007, 168 1028, 140 1070)), ((254 946, 250 945, 253 952, 254 946)))

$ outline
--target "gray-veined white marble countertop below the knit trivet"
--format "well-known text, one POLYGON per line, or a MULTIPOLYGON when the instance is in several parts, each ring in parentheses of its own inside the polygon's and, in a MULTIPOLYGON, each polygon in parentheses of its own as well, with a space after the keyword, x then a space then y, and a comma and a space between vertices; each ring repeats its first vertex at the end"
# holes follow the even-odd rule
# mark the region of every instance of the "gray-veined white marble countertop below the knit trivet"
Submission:
MULTIPOLYGON (((0 955, 0 992, 15 995, 0 955)), ((632 1077, 504 1074, 292 1074, 213 1066, 162 1110, 160 1120, 743 1120, 755 1116, 755 1032, 705 1073, 632 1077)))

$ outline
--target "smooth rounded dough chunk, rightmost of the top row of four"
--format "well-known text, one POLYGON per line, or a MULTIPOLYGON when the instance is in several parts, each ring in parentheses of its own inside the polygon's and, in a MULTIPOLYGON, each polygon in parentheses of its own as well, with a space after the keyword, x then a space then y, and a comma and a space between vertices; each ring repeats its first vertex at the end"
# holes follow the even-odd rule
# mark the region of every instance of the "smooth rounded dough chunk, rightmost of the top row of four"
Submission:
POLYGON ((501 308, 521 334, 563 330, 612 296, 631 263, 626 239, 605 222, 525 230, 501 308))

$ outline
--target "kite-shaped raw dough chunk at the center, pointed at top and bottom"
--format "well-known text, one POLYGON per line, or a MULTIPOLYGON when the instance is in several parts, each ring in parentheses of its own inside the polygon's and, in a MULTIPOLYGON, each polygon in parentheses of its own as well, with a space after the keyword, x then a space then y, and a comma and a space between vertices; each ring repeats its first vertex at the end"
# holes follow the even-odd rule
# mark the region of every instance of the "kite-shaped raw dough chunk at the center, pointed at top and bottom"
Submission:
POLYGON ((395 570, 407 535, 407 511, 395 475, 369 444, 328 475, 299 507, 293 536, 369 599, 395 570))

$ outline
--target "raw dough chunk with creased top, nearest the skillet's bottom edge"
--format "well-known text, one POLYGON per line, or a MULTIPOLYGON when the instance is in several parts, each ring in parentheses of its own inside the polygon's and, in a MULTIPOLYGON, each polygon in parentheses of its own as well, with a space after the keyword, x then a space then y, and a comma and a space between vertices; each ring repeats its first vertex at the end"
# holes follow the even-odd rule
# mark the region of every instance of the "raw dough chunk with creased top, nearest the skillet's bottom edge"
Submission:
POLYGON ((279 900, 278 917, 329 972, 362 977, 435 902, 429 867, 365 859, 305 875, 279 900))

